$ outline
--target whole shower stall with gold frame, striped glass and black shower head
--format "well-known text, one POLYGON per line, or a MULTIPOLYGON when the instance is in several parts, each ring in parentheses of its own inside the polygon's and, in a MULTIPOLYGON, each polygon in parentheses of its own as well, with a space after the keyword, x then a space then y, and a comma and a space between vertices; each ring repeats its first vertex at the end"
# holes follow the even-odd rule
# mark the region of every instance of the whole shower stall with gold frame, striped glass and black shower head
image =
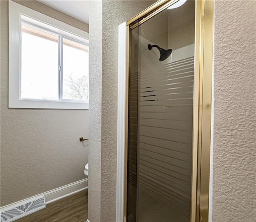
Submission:
POLYGON ((201 209, 206 206, 202 194, 207 187, 209 190, 209 173, 202 178, 207 175, 202 167, 207 172, 211 101, 203 86, 211 88, 211 81, 204 83, 211 73, 206 76, 202 67, 207 60, 200 51, 206 44, 202 39, 206 32, 202 34, 200 24, 207 4, 162 0, 126 23, 127 222, 206 218, 201 209))

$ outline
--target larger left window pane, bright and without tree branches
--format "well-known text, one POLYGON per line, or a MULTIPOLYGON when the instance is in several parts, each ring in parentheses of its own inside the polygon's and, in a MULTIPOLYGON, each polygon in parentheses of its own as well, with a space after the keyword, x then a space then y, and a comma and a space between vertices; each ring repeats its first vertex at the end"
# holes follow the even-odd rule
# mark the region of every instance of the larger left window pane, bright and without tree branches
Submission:
POLYGON ((22 99, 58 100, 58 36, 22 25, 22 99))

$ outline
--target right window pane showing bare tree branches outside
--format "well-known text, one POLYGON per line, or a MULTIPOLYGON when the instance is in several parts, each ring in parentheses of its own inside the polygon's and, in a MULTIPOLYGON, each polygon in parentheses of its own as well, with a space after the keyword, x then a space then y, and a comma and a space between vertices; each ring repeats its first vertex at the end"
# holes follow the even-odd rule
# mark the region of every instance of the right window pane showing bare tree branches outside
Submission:
POLYGON ((88 101, 88 47, 63 39, 63 99, 88 101))

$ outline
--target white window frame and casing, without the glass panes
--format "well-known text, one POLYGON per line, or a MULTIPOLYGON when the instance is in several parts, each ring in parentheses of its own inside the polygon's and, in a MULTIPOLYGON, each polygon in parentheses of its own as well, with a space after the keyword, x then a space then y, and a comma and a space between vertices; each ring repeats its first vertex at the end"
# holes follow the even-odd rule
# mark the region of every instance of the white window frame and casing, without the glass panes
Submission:
MULTIPOLYGON (((89 46, 88 32, 84 32, 16 2, 9 1, 9 108, 88 109, 88 102, 85 101, 20 99, 21 17, 22 21, 25 19, 26 22, 30 22, 32 19, 35 26, 37 26, 35 24, 36 20, 43 22, 45 27, 41 28, 47 30, 51 27, 51 32, 56 32, 67 39, 70 39, 70 36, 72 36, 72 41, 75 40, 78 43, 89 46), (74 35, 76 36, 75 39, 74 35)), ((42 26, 42 23, 40 23, 40 26, 42 26)))

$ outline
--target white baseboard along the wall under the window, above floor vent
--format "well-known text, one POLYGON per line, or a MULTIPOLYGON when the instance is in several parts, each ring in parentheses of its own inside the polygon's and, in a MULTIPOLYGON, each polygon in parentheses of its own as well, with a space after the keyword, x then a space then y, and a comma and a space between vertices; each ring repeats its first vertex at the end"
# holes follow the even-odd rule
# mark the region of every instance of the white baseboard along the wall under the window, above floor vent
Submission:
POLYGON ((66 197, 66 196, 70 196, 70 195, 75 194, 77 192, 80 192, 82 190, 86 190, 87 188, 88 188, 88 178, 83 179, 83 180, 78 180, 76 182, 67 184, 65 186, 61 186, 61 187, 56 188, 54 190, 49 190, 47 192, 44 192, 44 193, 41 193, 41 194, 38 194, 38 195, 35 195, 35 196, 32 196, 32 197, 26 198, 24 200, 17 201, 17 202, 12 203, 12 204, 8 204, 6 206, 1 207, 0 211, 6 210, 7 208, 10 208, 10 207, 13 207, 13 206, 17 206, 19 204, 22 205, 22 203, 30 200, 31 198, 33 198, 33 199, 38 198, 42 195, 45 198, 46 204, 50 204, 51 202, 54 202, 56 200, 60 200, 64 197, 66 197))

